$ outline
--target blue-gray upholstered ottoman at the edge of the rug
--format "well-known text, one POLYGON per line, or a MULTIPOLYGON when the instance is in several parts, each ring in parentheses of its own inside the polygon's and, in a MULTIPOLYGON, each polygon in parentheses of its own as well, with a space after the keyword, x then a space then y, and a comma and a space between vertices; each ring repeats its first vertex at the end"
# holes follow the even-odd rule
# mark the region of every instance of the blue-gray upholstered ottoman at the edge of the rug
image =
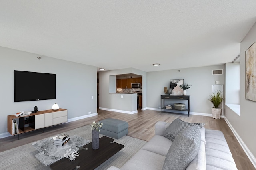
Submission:
POLYGON ((128 134, 128 123, 126 121, 107 118, 101 120, 100 122, 103 122, 103 126, 100 128, 100 134, 115 139, 119 139, 128 134))

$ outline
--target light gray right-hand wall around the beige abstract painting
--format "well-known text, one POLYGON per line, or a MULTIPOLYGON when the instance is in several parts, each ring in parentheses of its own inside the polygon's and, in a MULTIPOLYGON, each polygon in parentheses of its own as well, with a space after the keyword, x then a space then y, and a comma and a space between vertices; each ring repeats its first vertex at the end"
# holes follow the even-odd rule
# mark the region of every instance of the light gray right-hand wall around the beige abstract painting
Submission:
POLYGON ((226 117, 234 128, 246 153, 249 154, 256 166, 256 102, 245 99, 245 51, 254 42, 256 42, 256 24, 251 28, 248 34, 241 42, 240 54, 240 116, 236 115, 232 110, 227 110, 226 117))

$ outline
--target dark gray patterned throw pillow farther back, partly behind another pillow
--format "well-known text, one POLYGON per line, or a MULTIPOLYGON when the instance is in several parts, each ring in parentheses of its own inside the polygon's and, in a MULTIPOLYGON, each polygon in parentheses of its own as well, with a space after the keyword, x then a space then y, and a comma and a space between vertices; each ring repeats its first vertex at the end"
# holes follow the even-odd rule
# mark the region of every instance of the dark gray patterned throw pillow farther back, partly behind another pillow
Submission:
POLYGON ((204 127, 205 123, 189 123, 177 118, 174 121, 172 121, 168 128, 166 128, 163 136, 174 141, 174 139, 180 134, 180 132, 182 132, 182 130, 194 125, 198 125, 199 128, 202 128, 204 127))

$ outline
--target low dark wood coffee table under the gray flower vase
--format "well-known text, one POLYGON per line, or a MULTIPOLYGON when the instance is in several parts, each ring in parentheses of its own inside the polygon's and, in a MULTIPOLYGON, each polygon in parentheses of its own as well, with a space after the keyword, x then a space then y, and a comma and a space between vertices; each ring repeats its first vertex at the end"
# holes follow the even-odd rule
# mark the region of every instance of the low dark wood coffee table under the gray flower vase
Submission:
POLYGON ((114 139, 107 136, 100 138, 100 148, 92 149, 92 142, 84 145, 84 149, 78 150, 79 156, 74 161, 62 158, 50 165, 52 170, 74 170, 80 166, 81 170, 93 170, 124 148, 124 145, 113 142, 114 139))

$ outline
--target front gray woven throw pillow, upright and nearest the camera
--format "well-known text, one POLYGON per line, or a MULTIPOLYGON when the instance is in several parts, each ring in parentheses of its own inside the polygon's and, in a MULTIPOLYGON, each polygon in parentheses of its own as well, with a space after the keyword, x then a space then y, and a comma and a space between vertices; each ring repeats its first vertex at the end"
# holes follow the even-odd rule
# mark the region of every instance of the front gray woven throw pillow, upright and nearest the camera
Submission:
POLYGON ((184 129, 172 143, 164 160, 163 170, 185 170, 200 149, 198 125, 184 129))

